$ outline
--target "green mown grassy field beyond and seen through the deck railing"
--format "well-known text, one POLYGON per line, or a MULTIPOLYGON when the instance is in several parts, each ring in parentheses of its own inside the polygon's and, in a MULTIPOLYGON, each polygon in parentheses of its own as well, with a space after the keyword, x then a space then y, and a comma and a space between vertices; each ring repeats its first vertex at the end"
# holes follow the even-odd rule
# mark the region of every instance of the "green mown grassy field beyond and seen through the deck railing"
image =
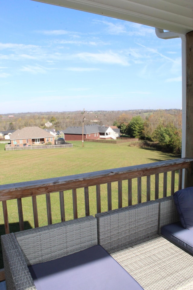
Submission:
MULTIPOLYGON (((29 180, 46 179, 67 176, 85 172, 132 166, 144 163, 178 158, 168 153, 156 150, 129 147, 128 143, 108 144, 72 141, 73 148, 58 148, 45 150, 5 151, 5 144, 0 143, 0 184, 23 182, 29 180)), ((168 185, 171 182, 168 176, 168 185)), ((146 178, 142 178, 142 201, 146 198, 146 178)), ((154 198, 154 178, 151 179, 151 195, 154 198)), ((177 182, 175 188, 177 189, 177 182)), ((118 207, 117 182, 112 183, 112 208, 118 207)), ((169 185, 170 188, 170 185, 169 185)), ((160 197, 163 194, 163 177, 160 175, 160 197)), ((170 194, 168 192, 168 194, 170 194)), ((66 191, 65 215, 66 219, 73 218, 72 193, 66 191)), ((89 188, 90 214, 96 213, 96 188, 89 188)), ((133 180, 133 203, 137 203, 137 180, 133 180)), ((77 190, 78 217, 84 216, 84 189, 77 190)), ((127 182, 123 182, 123 206, 127 206, 127 182)), ((51 194, 52 223, 60 222, 59 194, 51 194)), ((39 226, 47 224, 45 195, 37 197, 39 226)), ((101 185, 102 211, 107 210, 106 185, 101 185)), ((7 202, 10 231, 18 231, 17 201, 7 202)), ((34 227, 31 198, 23 198, 23 214, 25 229, 34 227)), ((4 234, 2 204, 0 204, 0 234, 4 234)), ((1 263, 1 262, 0 262, 1 263)), ((1 268, 0 264, 0 268, 1 268)))

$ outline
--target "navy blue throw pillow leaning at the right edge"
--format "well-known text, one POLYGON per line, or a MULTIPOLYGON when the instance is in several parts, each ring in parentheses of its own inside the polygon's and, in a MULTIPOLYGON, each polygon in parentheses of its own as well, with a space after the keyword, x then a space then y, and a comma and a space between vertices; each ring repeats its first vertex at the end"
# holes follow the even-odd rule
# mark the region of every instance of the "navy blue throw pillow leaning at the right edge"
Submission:
POLYGON ((182 226, 193 230, 193 187, 181 189, 173 197, 182 226))

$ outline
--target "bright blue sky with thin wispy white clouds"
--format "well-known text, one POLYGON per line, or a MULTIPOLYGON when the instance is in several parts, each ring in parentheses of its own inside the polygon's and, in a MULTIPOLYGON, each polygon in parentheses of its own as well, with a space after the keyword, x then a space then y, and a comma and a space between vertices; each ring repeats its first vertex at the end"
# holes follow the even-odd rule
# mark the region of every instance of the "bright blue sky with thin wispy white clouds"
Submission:
POLYGON ((182 107, 180 38, 30 0, 1 0, 0 27, 0 114, 182 107))

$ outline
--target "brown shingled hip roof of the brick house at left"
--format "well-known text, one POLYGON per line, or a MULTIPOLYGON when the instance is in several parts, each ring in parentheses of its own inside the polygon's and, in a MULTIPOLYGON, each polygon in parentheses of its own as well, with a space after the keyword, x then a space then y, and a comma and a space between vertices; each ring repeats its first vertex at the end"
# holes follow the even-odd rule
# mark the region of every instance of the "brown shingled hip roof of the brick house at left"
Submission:
POLYGON ((13 134, 11 134, 10 140, 47 137, 53 137, 53 135, 48 133, 46 130, 41 129, 40 127, 24 127, 23 129, 18 129, 13 134))

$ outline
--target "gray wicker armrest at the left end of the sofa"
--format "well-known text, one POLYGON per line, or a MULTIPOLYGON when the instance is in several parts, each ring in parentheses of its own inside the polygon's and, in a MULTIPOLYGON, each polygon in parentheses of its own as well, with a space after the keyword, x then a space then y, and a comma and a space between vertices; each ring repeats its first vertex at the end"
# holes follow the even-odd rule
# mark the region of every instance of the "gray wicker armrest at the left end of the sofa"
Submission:
POLYGON ((2 235, 1 243, 7 290, 36 290, 14 234, 2 235))

